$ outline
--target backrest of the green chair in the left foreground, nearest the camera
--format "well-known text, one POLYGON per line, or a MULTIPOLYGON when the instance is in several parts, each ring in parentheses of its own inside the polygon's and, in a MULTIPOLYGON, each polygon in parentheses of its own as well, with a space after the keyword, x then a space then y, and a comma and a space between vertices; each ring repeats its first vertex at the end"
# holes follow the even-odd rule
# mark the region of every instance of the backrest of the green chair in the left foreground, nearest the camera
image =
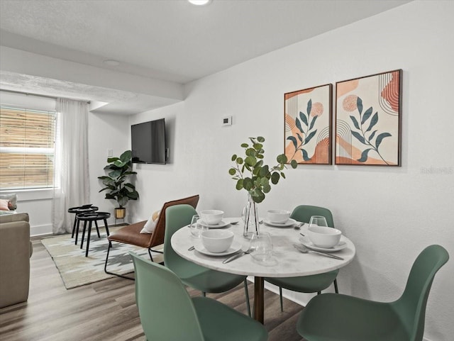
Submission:
POLYGON ((204 341, 186 289, 166 267, 129 252, 135 269, 135 301, 147 340, 204 341))

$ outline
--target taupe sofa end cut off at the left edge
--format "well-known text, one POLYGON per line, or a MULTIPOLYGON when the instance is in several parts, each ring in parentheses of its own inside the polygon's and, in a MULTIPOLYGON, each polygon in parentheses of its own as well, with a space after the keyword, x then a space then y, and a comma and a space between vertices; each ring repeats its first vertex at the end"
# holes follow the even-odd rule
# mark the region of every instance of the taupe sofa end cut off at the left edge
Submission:
POLYGON ((28 299, 30 240, 28 213, 0 216, 0 308, 28 299))

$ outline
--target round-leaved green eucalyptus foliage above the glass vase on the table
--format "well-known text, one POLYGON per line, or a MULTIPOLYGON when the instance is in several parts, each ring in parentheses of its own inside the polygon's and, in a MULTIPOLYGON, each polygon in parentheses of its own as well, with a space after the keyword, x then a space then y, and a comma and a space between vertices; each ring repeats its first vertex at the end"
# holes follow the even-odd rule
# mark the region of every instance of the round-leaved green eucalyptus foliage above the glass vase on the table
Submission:
MULTIPOLYGON (((277 184, 281 177, 285 179, 282 170, 287 168, 285 166, 287 157, 284 154, 277 155, 277 164, 273 167, 263 164, 265 156, 263 142, 265 142, 265 138, 258 136, 257 138, 249 138, 249 140, 251 145, 248 143, 241 144, 241 147, 245 150, 245 157, 232 155, 231 160, 235 165, 228 169, 228 174, 236 180, 238 191, 245 189, 255 203, 261 203, 265 199, 265 194, 271 191, 271 184, 277 184), (245 172, 249 172, 250 176, 246 175, 245 172)), ((296 160, 292 160, 290 164, 292 168, 297 167, 296 160)))

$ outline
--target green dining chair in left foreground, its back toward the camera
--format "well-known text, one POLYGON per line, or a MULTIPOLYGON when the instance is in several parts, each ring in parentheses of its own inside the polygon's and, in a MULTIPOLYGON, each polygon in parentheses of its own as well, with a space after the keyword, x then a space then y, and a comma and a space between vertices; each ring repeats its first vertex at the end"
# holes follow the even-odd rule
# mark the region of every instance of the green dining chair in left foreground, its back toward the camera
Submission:
POLYGON ((214 299, 191 298, 170 269, 129 254, 135 269, 135 302, 147 340, 267 340, 261 323, 214 299))

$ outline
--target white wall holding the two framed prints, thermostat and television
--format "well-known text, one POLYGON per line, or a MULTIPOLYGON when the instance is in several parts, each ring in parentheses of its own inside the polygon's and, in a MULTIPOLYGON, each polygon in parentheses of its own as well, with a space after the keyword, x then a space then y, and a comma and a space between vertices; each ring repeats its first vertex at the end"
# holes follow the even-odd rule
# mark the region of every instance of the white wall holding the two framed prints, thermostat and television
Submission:
MULTIPOLYGON (((200 210, 238 216, 246 194, 228 176, 230 157, 257 135, 267 139, 267 162, 283 151, 284 93, 403 69, 402 167, 300 165, 259 206, 330 208, 357 247, 338 277, 341 292, 394 300, 424 247, 437 243, 454 256, 453 14, 453 2, 414 1, 200 79, 184 103, 134 116, 131 123, 165 117, 171 153, 170 164, 137 169, 134 218, 191 194, 201 195, 200 210), (222 128, 226 115, 233 125, 222 128)), ((454 335, 453 271, 451 259, 433 283, 426 340, 454 335)))

